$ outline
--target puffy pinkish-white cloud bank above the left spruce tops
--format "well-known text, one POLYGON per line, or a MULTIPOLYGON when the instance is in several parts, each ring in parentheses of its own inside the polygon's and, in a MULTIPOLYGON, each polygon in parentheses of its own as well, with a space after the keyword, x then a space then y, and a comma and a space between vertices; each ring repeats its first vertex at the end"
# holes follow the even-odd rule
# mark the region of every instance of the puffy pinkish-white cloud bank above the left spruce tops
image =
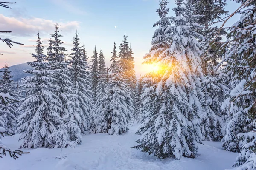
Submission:
MULTIPOLYGON (((18 36, 34 36, 39 30, 43 34, 52 33, 54 30, 52 20, 46 20, 43 18, 15 18, 6 17, 0 14, 0 30, 12 31, 12 35, 18 36)), ((60 30, 63 32, 71 32, 79 28, 79 22, 71 21, 66 23, 58 23, 60 30)))

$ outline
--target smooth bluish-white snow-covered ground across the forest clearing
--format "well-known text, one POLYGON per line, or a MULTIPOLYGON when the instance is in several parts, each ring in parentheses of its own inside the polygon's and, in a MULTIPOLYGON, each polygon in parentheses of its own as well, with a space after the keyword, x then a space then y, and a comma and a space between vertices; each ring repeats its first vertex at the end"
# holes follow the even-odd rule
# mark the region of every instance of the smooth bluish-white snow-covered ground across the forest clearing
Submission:
MULTIPOLYGON (((66 159, 56 159, 61 149, 23 149, 24 154, 14 160, 9 156, 0 158, 3 170, 224 170, 231 169, 236 153, 221 150, 221 142, 204 142, 199 146, 195 159, 181 158, 160 160, 154 156, 131 149, 136 145, 137 126, 130 127, 128 133, 117 136, 108 134, 87 134, 83 144, 76 148, 62 149, 66 159)), ((3 144, 17 149, 20 142, 15 137, 6 136, 3 144)))

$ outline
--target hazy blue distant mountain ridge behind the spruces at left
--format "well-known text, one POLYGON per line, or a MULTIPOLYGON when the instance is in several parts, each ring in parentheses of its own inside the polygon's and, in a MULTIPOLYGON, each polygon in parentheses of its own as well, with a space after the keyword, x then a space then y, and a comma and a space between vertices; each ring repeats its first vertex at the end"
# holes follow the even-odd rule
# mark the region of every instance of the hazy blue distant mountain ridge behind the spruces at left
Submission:
MULTIPOLYGON (((11 72, 12 79, 15 82, 19 81, 23 77, 31 76, 32 74, 26 74, 23 72, 23 70, 28 70, 28 69, 32 69, 32 67, 27 63, 12 65, 9 67, 9 71, 12 71, 11 72)), ((0 75, 3 74, 2 71, 3 71, 3 68, 0 69, 0 75)))

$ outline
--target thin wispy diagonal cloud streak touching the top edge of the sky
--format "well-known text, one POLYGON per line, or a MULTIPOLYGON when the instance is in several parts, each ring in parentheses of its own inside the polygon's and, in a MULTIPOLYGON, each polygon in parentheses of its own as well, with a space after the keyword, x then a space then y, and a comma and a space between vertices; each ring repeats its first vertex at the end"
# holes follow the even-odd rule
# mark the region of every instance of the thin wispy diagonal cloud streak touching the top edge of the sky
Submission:
POLYGON ((85 15, 87 14, 85 11, 79 9, 77 6, 74 6, 72 3, 70 3, 67 0, 52 0, 56 5, 61 6, 66 11, 69 11, 72 14, 78 14, 78 15, 85 15))

